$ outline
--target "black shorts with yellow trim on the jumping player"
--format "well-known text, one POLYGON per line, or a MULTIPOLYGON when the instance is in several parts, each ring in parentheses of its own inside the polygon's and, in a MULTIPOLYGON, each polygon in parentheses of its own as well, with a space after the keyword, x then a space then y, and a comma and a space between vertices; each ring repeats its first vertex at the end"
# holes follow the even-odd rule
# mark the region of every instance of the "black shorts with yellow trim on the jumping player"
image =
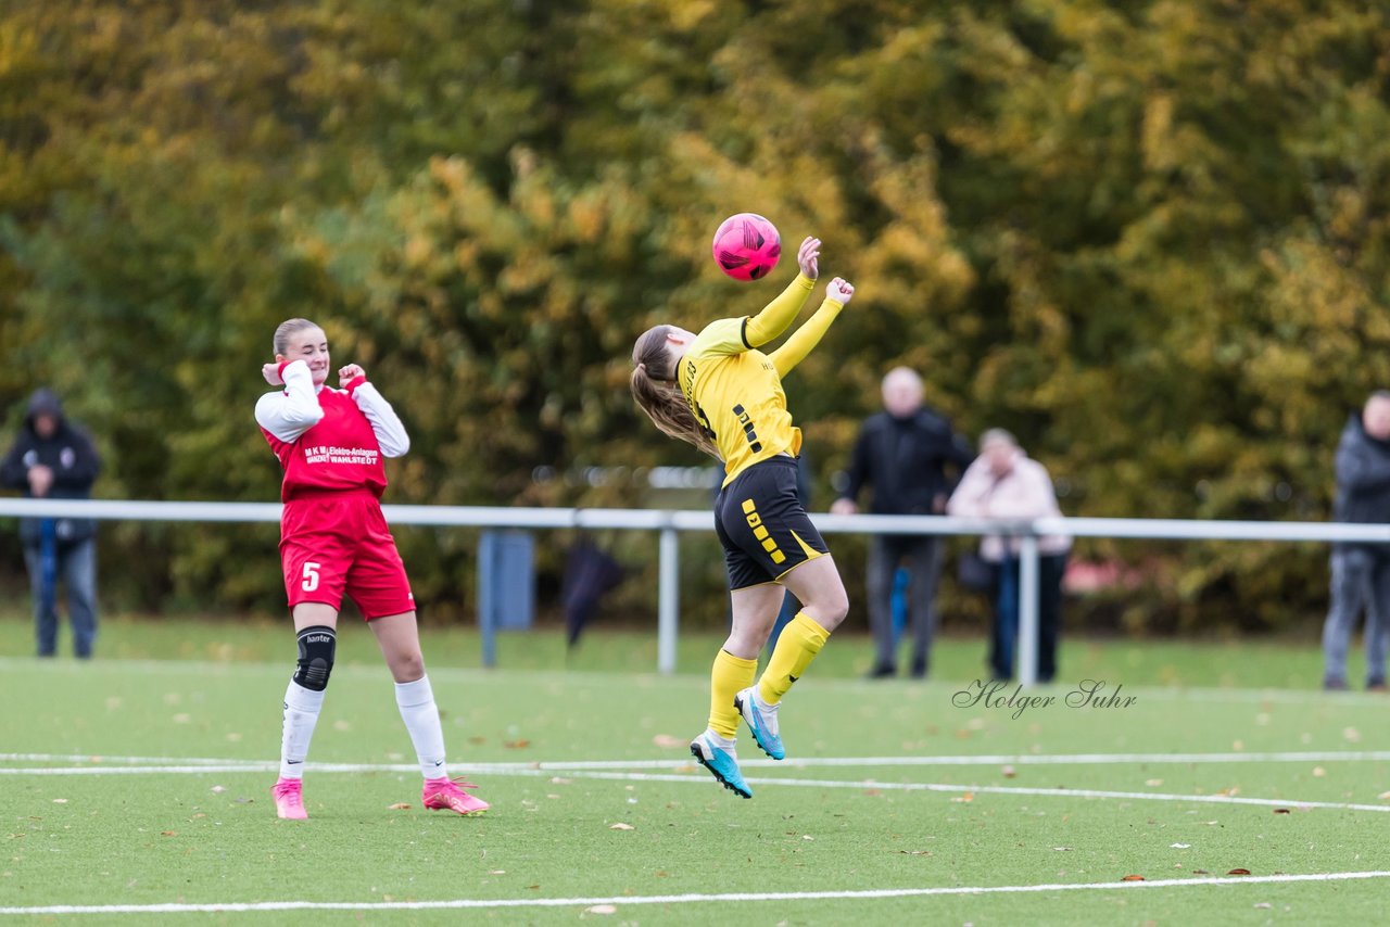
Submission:
POLYGON ((760 460, 720 489, 714 531, 724 546, 731 591, 776 582, 830 553, 796 495, 792 457, 760 460))

